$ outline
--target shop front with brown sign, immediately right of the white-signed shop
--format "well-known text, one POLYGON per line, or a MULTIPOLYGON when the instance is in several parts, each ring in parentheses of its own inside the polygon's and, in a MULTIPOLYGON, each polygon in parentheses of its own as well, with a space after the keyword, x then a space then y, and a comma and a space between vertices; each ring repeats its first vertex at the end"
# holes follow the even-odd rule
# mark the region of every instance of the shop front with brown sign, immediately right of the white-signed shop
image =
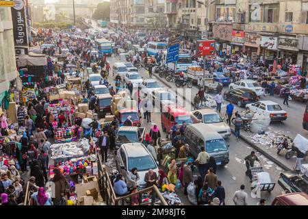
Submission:
POLYGON ((279 36, 278 38, 279 57, 291 62, 297 63, 298 39, 292 36, 279 36))

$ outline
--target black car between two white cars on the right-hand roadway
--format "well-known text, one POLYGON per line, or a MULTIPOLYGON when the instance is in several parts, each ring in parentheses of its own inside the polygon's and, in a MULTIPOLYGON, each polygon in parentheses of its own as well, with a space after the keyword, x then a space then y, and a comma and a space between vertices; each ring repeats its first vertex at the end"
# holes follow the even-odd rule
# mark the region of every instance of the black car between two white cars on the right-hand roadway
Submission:
POLYGON ((224 92, 224 99, 238 104, 238 107, 244 107, 247 103, 259 101, 259 96, 247 88, 237 88, 224 92))

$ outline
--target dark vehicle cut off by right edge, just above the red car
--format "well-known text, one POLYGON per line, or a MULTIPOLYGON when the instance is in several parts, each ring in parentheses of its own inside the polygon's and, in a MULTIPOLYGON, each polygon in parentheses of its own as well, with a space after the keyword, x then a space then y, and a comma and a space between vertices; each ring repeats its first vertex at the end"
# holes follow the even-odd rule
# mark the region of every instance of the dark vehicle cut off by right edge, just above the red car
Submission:
POLYGON ((278 184, 286 193, 305 192, 308 194, 308 177, 299 175, 298 172, 294 170, 281 172, 278 184))

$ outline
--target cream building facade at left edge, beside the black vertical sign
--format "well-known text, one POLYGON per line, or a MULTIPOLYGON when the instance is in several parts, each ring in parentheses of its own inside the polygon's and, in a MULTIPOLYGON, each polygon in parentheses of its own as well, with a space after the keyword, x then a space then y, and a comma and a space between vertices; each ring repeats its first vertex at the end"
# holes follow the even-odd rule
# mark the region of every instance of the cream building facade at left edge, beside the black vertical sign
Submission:
POLYGON ((11 8, 0 8, 0 101, 17 77, 11 8))

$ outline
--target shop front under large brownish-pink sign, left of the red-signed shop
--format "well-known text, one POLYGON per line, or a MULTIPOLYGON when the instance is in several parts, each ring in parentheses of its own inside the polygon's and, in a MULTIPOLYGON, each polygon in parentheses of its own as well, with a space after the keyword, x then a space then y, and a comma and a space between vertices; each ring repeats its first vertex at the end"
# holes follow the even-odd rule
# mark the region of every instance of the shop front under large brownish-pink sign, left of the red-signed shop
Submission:
POLYGON ((213 25, 213 38, 216 40, 216 51, 223 53, 231 53, 231 40, 232 40, 232 25, 221 25, 214 23, 213 25))

